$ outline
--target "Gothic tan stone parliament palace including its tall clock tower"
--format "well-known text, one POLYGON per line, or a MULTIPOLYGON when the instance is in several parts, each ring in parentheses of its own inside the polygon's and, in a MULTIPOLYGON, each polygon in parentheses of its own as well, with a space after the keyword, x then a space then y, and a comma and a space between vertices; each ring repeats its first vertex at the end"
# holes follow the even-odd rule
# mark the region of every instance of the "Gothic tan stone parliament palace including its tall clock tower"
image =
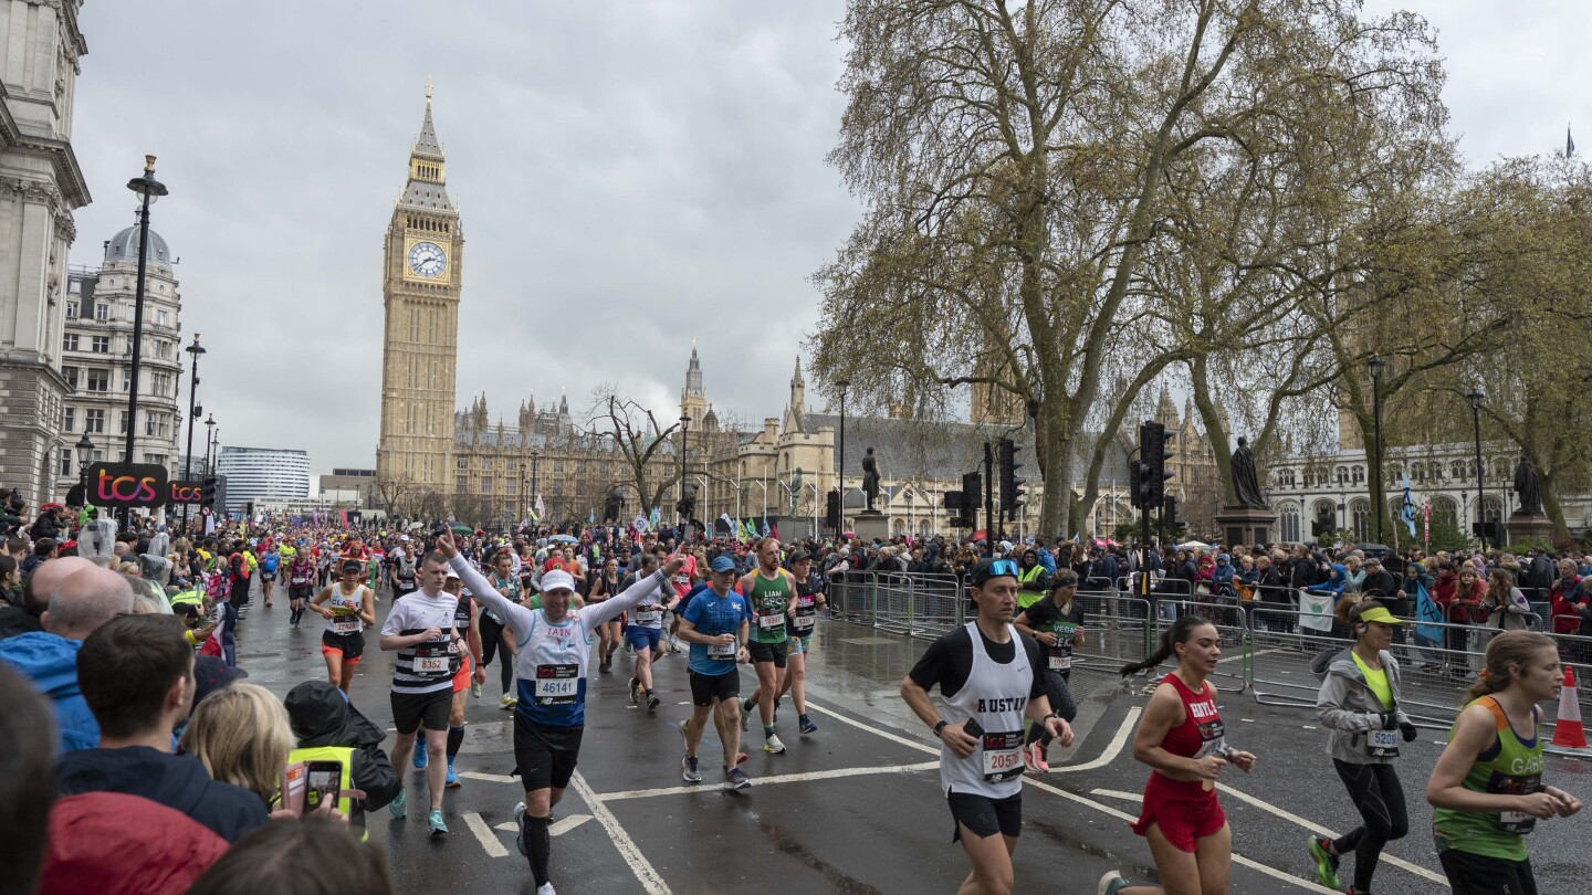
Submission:
MULTIPOLYGON (((696 346, 689 349, 680 390, 680 419, 664 414, 654 425, 642 414, 640 432, 626 432, 605 414, 575 419, 565 397, 541 406, 527 397, 509 416, 494 412, 486 395, 457 409, 465 248, 465 226, 447 193, 447 159, 427 86, 425 116, 384 239, 380 436, 373 495, 380 510, 411 519, 451 516, 484 527, 506 529, 538 516, 565 526, 602 522, 615 495, 622 498, 621 522, 650 514, 654 503, 662 522, 675 522, 683 468, 685 484, 696 498, 694 518, 708 526, 726 516, 766 518, 785 537, 807 535, 821 526, 825 497, 841 484, 842 420, 839 414, 809 408, 801 358, 793 358, 785 412, 763 419, 761 425, 736 420, 712 405, 696 346), (645 473, 637 476, 634 451, 626 451, 626 444, 645 448, 653 441, 645 473), (638 478, 646 483, 646 495, 638 494, 638 478)), ((734 357, 721 360, 726 368, 737 365, 734 357)), ((1157 416, 1169 408, 1170 400, 1162 397, 1157 416)), ((1162 422, 1189 430, 1186 416, 1178 420, 1175 408, 1170 414, 1162 422)), ((872 448, 884 478, 876 508, 888 516, 890 532, 949 532, 946 492, 962 487, 963 473, 979 470, 984 441, 1001 436, 1017 440, 1027 448, 1025 457, 1033 457, 1032 430, 1024 425, 1020 409, 1014 412, 979 395, 973 397, 971 422, 906 414, 847 417, 845 518, 864 508, 861 462, 872 448)), ((1102 495, 1092 514, 1097 532, 1110 532, 1116 521, 1132 516, 1127 500, 1132 446, 1126 438, 1118 443, 1102 471, 1102 495)), ((1184 454, 1184 463, 1197 465, 1205 452, 1191 454, 1184 454)), ((1196 473, 1213 478, 1215 462, 1208 467, 1189 467, 1181 481, 1192 481, 1196 473)), ((1028 532, 1038 521, 1043 484, 1036 473, 1027 478, 1027 505, 1008 530, 1028 532)))

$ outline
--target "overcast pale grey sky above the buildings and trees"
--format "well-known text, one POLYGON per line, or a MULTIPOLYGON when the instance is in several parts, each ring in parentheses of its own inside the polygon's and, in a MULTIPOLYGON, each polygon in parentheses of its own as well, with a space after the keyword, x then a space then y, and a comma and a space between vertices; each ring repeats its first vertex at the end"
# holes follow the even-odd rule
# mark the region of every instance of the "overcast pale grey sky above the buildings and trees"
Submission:
MULTIPOLYGON (((1473 164, 1563 147, 1592 83, 1586 3, 1369 6, 1439 29, 1473 164)), ((527 395, 567 389, 579 411, 613 381, 672 416, 697 338, 721 412, 777 416, 817 322, 807 276, 858 212, 823 164, 842 14, 842 0, 89 0, 73 148, 94 204, 72 260, 97 263, 134 221, 124 183, 159 156, 172 194, 151 220, 181 258, 223 443, 304 448, 314 473, 374 465, 382 234, 430 75, 466 239, 460 406, 484 390, 513 422, 527 395)))

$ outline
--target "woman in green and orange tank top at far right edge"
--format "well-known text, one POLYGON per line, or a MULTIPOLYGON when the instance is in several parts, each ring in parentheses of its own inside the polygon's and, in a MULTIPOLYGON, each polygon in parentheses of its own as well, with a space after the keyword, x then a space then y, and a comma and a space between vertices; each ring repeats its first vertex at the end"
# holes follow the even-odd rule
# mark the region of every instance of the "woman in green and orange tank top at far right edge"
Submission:
POLYGON ((1508 631, 1487 643, 1487 661, 1449 729, 1449 745, 1426 782, 1431 834, 1453 895, 1535 895, 1525 834, 1538 820, 1570 817, 1581 801, 1543 785, 1538 702, 1562 685, 1549 637, 1508 631))

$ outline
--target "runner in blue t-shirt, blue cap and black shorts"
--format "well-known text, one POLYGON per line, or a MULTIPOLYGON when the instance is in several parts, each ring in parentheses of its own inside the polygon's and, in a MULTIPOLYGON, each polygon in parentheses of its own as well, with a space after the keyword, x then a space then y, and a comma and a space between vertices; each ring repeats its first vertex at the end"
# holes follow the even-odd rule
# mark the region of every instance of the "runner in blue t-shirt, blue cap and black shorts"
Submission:
POLYGON ((747 600, 731 591, 736 583, 736 562, 718 556, 708 564, 712 578, 708 588, 691 597, 680 615, 680 639, 691 643, 691 717, 680 721, 680 736, 686 741, 686 756, 680 761, 681 776, 688 784, 700 784, 697 771, 697 744, 707 729, 708 710, 713 726, 724 744, 724 788, 743 790, 751 785, 737 766, 740 755, 740 672, 736 662, 750 659, 747 637, 751 632, 751 610, 747 600))

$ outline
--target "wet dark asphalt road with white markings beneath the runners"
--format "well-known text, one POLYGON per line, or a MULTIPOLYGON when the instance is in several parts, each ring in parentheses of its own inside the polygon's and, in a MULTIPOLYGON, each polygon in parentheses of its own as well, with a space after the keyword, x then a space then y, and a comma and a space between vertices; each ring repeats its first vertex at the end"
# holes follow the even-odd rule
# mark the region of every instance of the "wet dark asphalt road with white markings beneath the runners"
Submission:
MULTIPOLYGON (((385 615, 390 604, 379 605, 385 615)), ((323 677, 320 627, 291 631, 283 604, 255 607, 242 626, 239 664, 252 680, 285 693, 323 677)), ((681 741, 675 723, 689 713, 685 659, 665 658, 657 670, 662 705, 629 704, 629 658, 589 686, 579 771, 556 809, 554 884, 560 892, 954 892, 968 865, 950 842, 952 822, 938 787, 938 744, 906 710, 896 686, 927 642, 871 627, 823 621, 810 659, 812 718, 820 731, 796 733, 786 701, 780 736, 788 752, 766 755, 753 731, 743 766, 753 787, 718 787, 720 744, 702 741, 699 785, 680 779, 681 741)), ((374 635, 353 686, 353 702, 380 726, 390 725, 387 686, 392 655, 374 635)), ((482 699, 471 699, 468 736, 458 758, 463 787, 447 793, 446 838, 427 834, 423 776, 404 769, 411 819, 371 819, 406 893, 533 892, 516 849, 513 806, 522 796, 513 771, 513 725, 498 710, 495 669, 482 699)), ((1098 876, 1121 870, 1153 881, 1149 850, 1127 823, 1138 814, 1148 769, 1134 761, 1130 737, 1145 698, 1143 680, 1124 686, 1110 669, 1075 674, 1081 702, 1081 742, 1052 748, 1052 772, 1027 779, 1024 834, 1016 854, 1017 889, 1094 892, 1098 876)), ((742 691, 755 678, 742 672, 742 691)), ((1309 709, 1256 704, 1226 694, 1235 745, 1259 755, 1254 774, 1231 771, 1223 804, 1234 825, 1234 893, 1328 892, 1307 876, 1304 841, 1310 831, 1342 833, 1352 811, 1325 755, 1325 734, 1309 709)), ((1441 750, 1439 731, 1423 731, 1399 769, 1411 807, 1411 834, 1395 842, 1377 876, 1379 890, 1447 892, 1431 849, 1430 809, 1422 796, 1441 750)), ((388 741, 390 745, 390 741, 388 741)), ((1589 764, 1549 760, 1547 777, 1592 801, 1589 764)), ((1547 822, 1532 836, 1543 892, 1570 892, 1592 874, 1584 819, 1547 822)))

